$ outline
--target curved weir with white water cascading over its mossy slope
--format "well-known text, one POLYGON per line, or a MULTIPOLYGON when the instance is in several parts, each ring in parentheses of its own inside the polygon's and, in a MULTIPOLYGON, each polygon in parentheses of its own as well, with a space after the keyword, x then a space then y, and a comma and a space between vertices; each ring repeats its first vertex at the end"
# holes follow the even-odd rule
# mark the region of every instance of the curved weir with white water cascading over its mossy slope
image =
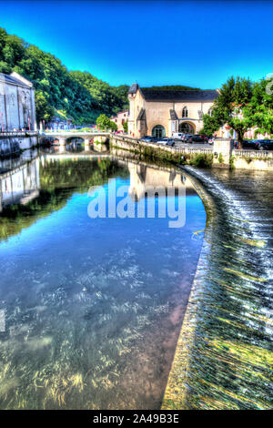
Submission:
POLYGON ((273 174, 188 169, 211 219, 164 408, 272 408, 273 174))

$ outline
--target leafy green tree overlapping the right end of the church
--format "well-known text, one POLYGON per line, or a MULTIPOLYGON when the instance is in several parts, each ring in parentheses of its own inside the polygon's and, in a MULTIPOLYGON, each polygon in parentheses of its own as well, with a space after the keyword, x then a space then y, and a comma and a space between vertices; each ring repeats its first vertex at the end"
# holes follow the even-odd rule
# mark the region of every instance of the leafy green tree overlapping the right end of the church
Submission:
POLYGON ((251 127, 250 117, 243 115, 244 108, 248 106, 252 97, 253 84, 248 78, 233 76, 227 79, 219 96, 212 107, 212 114, 204 115, 204 132, 211 135, 219 127, 227 123, 238 134, 239 143, 244 138, 244 133, 251 127))

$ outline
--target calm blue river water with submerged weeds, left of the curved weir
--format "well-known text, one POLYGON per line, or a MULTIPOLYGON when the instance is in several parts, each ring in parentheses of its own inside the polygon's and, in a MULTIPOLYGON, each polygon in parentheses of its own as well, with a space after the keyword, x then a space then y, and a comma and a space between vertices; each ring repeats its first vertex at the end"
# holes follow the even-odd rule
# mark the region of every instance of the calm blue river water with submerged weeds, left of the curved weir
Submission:
MULTIPOLYGON (((108 178, 136 185, 135 170, 141 187, 137 168, 110 158, 42 156, 39 195, 3 209, 2 409, 160 407, 202 245, 191 237, 206 215, 188 185, 182 229, 88 218, 87 189, 107 192, 108 178)), ((185 181, 176 172, 165 171, 167 182, 185 181)))

